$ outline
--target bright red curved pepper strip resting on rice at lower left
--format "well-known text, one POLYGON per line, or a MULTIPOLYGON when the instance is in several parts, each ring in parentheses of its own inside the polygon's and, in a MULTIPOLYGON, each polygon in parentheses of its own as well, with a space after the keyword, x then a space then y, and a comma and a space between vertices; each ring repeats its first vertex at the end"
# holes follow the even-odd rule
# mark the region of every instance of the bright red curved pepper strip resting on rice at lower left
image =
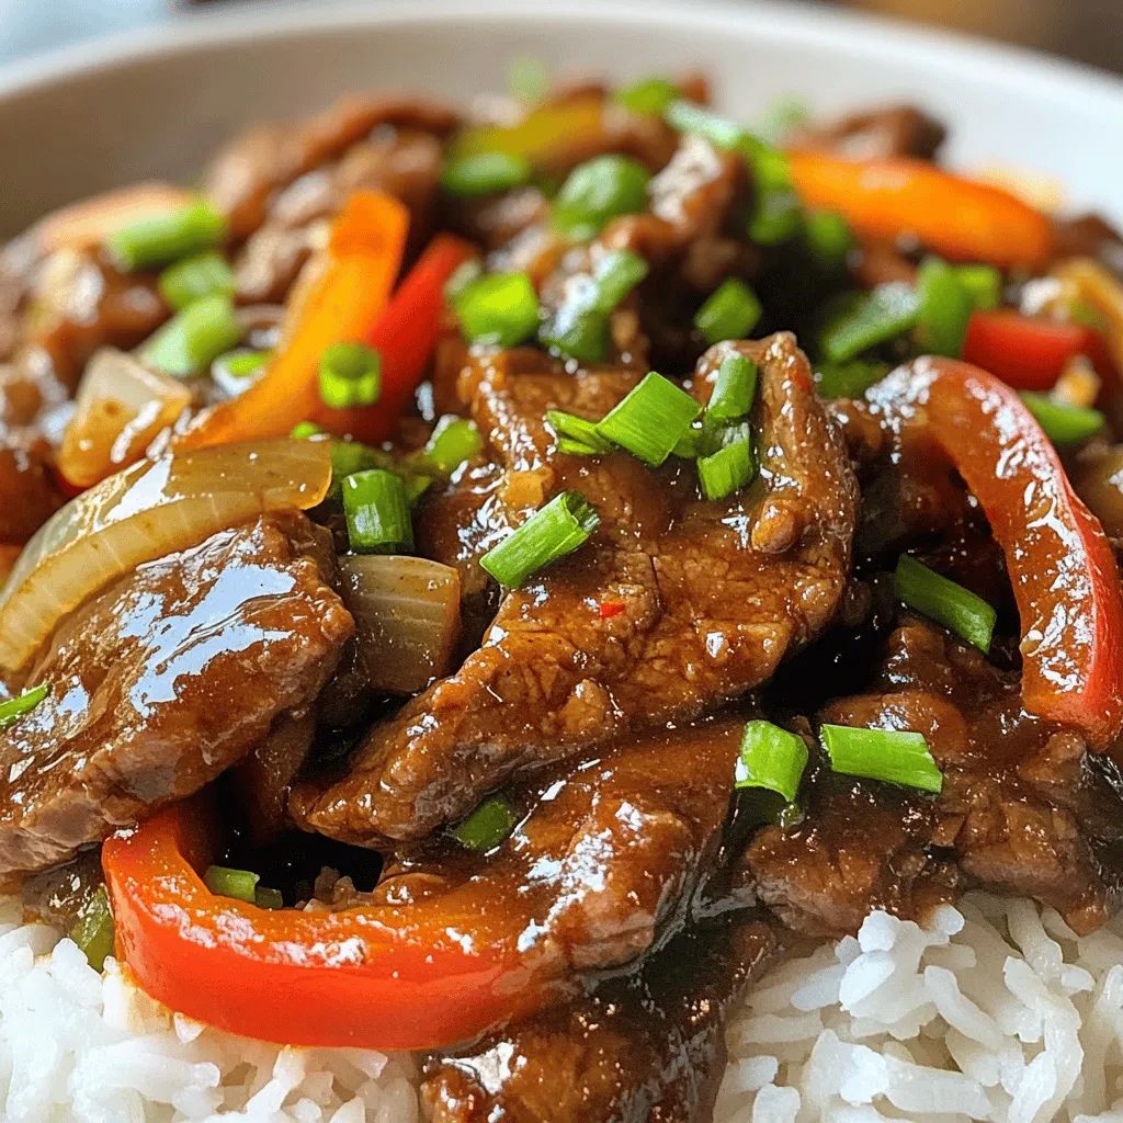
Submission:
POLYGON ((517 949, 523 911, 496 886, 407 906, 266 911, 217 897, 198 869, 212 855, 200 800, 111 838, 102 867, 117 952, 154 998, 230 1033, 294 1046, 436 1049, 544 1001, 517 949))

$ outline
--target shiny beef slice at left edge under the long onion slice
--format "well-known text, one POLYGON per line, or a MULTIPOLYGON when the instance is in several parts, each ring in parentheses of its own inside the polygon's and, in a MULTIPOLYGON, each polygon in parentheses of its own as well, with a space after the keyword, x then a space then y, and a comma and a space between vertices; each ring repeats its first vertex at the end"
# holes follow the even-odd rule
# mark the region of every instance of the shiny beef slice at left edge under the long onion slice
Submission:
POLYGON ((0 731, 0 873, 43 869, 183 798, 331 673, 353 621, 303 515, 143 565, 66 618, 0 731))

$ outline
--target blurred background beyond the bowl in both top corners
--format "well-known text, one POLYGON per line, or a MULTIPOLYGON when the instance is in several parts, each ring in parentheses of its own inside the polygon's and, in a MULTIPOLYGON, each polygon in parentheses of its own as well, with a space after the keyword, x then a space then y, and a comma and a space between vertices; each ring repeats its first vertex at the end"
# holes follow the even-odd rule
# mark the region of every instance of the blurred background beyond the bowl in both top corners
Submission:
MULTIPOLYGON (((316 0, 303 2, 311 4, 316 0)), ((969 31, 1123 74, 1123 35, 1117 30, 1123 0, 813 2, 969 31)), ((0 62, 222 3, 223 0, 0 0, 0 62)))

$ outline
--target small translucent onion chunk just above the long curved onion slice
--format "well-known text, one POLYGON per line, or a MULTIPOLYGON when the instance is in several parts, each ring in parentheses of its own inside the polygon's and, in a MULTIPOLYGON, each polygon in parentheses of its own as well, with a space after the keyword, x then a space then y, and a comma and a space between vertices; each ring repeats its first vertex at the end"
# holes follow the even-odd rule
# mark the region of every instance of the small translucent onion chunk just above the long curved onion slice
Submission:
POLYGON ((82 376, 58 469, 76 487, 90 487, 139 460, 190 404, 191 391, 179 380, 103 347, 82 376))

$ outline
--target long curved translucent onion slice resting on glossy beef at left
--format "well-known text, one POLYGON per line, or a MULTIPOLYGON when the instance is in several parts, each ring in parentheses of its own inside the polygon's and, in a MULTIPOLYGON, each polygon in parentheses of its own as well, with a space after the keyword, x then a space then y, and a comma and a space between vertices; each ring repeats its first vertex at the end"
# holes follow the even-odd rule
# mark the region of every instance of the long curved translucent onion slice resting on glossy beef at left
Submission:
POLYGON ((17 670, 67 613, 144 562, 266 511, 319 503, 328 441, 262 440, 143 460, 39 528, 0 590, 0 668, 17 670))

